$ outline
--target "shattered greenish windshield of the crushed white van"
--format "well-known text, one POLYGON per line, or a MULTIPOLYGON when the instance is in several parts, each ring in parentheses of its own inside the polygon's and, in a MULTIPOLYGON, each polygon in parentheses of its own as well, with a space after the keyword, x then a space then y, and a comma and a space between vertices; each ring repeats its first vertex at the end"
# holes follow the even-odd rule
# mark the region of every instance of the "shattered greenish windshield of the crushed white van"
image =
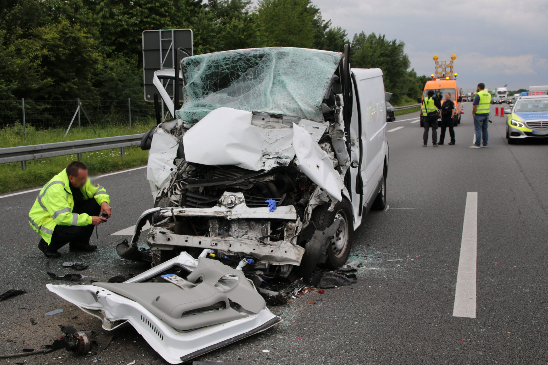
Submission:
POLYGON ((272 47, 186 57, 184 104, 176 115, 193 125, 216 108, 231 107, 323 121, 323 95, 342 56, 272 47))

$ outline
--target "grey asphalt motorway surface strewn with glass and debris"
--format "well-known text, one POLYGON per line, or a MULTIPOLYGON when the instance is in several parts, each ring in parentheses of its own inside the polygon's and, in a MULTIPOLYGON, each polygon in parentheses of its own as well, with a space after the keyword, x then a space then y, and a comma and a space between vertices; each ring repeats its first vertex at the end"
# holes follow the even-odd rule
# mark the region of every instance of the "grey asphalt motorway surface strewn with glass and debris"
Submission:
MULTIPOLYGON (((444 146, 422 147, 418 113, 389 123, 389 207, 370 213, 355 232, 349 261, 364 264, 357 283, 324 294, 312 291, 290 300, 287 308, 273 306, 271 310, 284 319, 282 325, 198 360, 548 363, 548 143, 509 146, 505 118, 492 113, 489 147, 469 149, 471 103, 464 110, 462 123, 455 128, 455 146, 447 145, 447 137, 444 146), (476 265, 470 265, 473 260, 476 265)), ((50 260, 53 271, 76 272, 61 268, 61 263, 81 261, 89 264, 80 272, 86 276, 82 282, 89 283, 147 268, 120 260, 115 244, 125 236, 111 235, 135 224, 139 214, 151 207, 144 173, 145 169, 136 169, 100 177, 113 207, 109 222, 99 227, 99 239, 92 236, 92 243, 100 248, 78 254, 62 248, 62 258, 50 260)), ((95 317, 45 288, 53 280, 45 273, 47 259, 38 251, 38 236, 26 218, 36 194, 0 195, 0 292, 8 286, 27 291, 0 302, 0 354, 41 349, 60 337, 58 325, 106 332, 95 317), (58 308, 64 312, 44 316, 58 308), (30 318, 37 324, 31 325, 30 318)), ((3 361, 93 364, 95 360, 119 365, 166 363, 133 328, 94 354, 77 357, 59 350, 3 361)))

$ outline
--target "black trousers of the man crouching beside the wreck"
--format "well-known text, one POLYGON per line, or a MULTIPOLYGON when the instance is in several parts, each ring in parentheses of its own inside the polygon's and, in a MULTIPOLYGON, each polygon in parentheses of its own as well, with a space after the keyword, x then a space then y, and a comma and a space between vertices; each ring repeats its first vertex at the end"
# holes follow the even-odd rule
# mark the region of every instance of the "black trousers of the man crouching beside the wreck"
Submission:
MULTIPOLYGON (((73 213, 87 213, 90 216, 99 216, 101 212, 101 206, 97 204, 95 199, 88 199, 78 204, 75 203, 75 207, 72 210, 73 213)), ((53 229, 52 241, 48 246, 48 251, 57 251, 59 248, 70 244, 70 247, 79 245, 88 245, 89 237, 93 233, 95 226, 93 224, 79 227, 77 225, 56 225, 53 229)), ((40 244, 47 245, 43 239, 40 244)))

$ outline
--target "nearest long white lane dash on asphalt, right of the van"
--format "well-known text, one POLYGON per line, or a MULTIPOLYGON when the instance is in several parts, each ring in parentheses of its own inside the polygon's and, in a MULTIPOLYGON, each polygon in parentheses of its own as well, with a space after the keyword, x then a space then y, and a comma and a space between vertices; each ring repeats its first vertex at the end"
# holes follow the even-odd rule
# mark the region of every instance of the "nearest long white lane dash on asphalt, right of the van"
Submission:
POLYGON ((476 318, 478 193, 466 194, 463 238, 460 243, 459 271, 456 274, 453 317, 476 318))

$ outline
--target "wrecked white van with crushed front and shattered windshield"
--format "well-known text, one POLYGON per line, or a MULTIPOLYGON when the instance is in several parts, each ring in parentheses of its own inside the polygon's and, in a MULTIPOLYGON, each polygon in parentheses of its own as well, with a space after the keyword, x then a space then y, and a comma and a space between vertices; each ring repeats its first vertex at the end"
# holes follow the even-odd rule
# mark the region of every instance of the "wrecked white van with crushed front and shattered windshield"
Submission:
POLYGON ((155 208, 118 254, 158 265, 208 248, 263 278, 344 265, 352 231, 386 204, 382 71, 351 69, 348 47, 232 50, 180 67, 182 107, 160 86, 173 119, 143 142, 155 208))

